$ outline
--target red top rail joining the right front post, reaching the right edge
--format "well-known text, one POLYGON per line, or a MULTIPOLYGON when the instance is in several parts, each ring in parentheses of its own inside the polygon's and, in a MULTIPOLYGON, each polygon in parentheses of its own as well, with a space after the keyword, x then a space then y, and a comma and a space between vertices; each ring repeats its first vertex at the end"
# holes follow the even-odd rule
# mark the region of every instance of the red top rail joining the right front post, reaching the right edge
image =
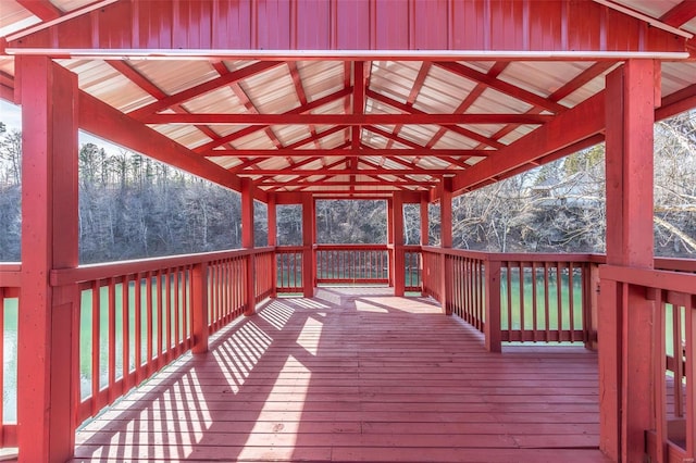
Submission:
POLYGON ((696 296, 696 275, 694 274, 601 265, 599 267, 599 276, 602 279, 696 296))

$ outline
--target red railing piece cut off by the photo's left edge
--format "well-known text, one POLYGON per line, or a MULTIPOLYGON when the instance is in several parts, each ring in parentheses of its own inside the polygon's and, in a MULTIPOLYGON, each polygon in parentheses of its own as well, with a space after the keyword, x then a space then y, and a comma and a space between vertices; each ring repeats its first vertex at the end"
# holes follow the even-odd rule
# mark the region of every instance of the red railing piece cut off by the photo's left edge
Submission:
POLYGON ((0 400, 0 448, 16 447, 16 350, 7 352, 5 346, 15 346, 14 342, 5 342, 9 336, 17 333, 17 304, 20 299, 20 264, 0 264, 0 391, 3 400, 0 400), (5 375, 13 379, 9 381, 5 375), (5 400, 11 410, 5 409, 5 400))

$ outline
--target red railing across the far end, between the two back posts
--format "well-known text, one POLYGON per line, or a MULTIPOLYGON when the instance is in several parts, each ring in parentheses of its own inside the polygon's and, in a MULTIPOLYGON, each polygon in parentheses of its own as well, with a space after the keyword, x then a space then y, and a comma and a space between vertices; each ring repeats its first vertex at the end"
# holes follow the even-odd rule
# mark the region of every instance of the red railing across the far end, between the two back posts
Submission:
POLYGON ((386 245, 319 245, 315 252, 319 284, 389 283, 386 245))

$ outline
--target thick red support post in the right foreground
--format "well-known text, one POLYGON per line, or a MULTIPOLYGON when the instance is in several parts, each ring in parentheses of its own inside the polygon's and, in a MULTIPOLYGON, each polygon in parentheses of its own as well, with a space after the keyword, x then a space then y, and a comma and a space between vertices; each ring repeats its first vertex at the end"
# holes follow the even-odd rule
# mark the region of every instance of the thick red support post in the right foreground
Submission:
MULTIPOLYGON (((608 264, 652 268, 656 85, 651 60, 629 60, 607 76, 608 264)), ((613 460, 642 461, 652 426, 654 303, 634 287, 605 280, 600 304, 600 447, 613 460)))

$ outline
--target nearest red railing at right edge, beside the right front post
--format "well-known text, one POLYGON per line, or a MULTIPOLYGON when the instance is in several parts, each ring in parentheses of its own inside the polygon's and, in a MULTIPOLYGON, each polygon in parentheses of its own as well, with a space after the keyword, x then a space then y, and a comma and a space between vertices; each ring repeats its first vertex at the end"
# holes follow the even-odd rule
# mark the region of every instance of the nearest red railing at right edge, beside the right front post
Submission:
MULTIPOLYGON (((670 264, 660 261, 656 266, 670 264)), ((655 303, 650 341, 655 426, 648 431, 647 450, 656 462, 696 459, 696 262, 671 264, 680 272, 601 268, 602 280, 641 288, 638 293, 655 303)))

